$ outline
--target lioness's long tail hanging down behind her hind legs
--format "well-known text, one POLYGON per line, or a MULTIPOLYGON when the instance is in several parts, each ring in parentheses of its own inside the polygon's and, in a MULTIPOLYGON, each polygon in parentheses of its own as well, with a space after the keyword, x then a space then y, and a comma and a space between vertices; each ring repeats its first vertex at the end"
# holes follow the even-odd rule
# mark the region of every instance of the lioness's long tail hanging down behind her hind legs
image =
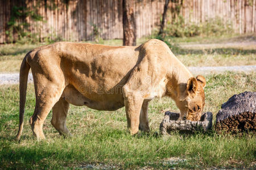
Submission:
POLYGON ((27 79, 30 71, 30 65, 27 63, 27 57, 31 55, 31 52, 27 53, 23 58, 19 72, 19 131, 16 135, 16 141, 19 141, 20 135, 23 130, 24 111, 27 95, 27 79))

